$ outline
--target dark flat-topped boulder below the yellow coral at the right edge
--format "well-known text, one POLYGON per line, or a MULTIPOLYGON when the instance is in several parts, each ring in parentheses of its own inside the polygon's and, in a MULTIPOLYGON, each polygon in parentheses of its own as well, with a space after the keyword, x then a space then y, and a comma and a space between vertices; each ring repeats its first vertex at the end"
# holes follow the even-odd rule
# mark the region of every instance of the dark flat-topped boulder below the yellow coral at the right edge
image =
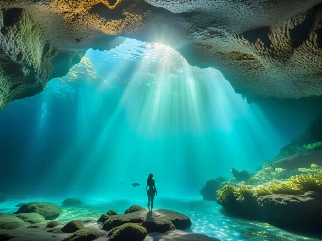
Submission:
POLYGON ((272 194, 258 198, 260 219, 298 231, 321 230, 322 203, 302 195, 272 194))

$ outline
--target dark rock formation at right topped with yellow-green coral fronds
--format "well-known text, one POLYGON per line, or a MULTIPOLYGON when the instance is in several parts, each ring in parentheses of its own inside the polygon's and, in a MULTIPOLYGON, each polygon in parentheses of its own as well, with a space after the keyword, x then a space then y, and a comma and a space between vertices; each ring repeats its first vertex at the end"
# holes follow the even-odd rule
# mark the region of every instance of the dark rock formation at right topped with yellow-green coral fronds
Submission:
POLYGON ((250 187, 223 186, 217 203, 225 213, 259 220, 297 232, 322 234, 322 171, 314 175, 291 176, 288 181, 274 180, 250 187))

